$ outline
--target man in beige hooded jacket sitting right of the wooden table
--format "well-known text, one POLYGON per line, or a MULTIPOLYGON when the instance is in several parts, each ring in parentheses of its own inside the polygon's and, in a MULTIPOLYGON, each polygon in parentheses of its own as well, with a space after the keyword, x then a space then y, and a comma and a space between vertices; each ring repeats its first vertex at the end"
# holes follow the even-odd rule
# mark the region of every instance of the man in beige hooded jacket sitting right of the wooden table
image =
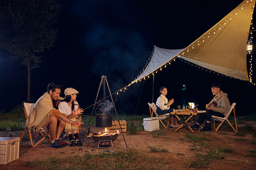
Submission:
POLYGON ((198 130, 199 126, 206 119, 207 122, 203 129, 200 131, 211 131, 210 129, 210 121, 213 116, 225 117, 226 114, 230 110, 230 103, 228 99, 228 95, 221 91, 220 84, 214 83, 210 86, 212 89, 212 94, 214 95, 212 101, 206 105, 207 110, 206 113, 201 113, 195 125, 191 126, 193 130, 198 130))

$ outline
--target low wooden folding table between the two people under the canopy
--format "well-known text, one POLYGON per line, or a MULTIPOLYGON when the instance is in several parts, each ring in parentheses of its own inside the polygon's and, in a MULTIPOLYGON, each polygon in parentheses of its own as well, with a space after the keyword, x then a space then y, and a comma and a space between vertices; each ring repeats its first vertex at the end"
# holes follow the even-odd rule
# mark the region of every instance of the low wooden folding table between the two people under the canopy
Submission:
POLYGON ((192 111, 175 111, 175 112, 171 112, 171 114, 174 114, 177 117, 177 119, 179 119, 179 120, 180 120, 179 115, 183 116, 185 118, 184 122, 180 120, 182 122, 182 124, 175 131, 183 128, 184 126, 187 126, 188 129, 190 129, 192 132, 194 132, 193 129, 191 129, 189 125, 192 124, 193 120, 200 113, 205 113, 205 111, 197 111, 197 113, 193 113, 192 111), (188 118, 187 118, 187 116, 188 116, 188 118))

